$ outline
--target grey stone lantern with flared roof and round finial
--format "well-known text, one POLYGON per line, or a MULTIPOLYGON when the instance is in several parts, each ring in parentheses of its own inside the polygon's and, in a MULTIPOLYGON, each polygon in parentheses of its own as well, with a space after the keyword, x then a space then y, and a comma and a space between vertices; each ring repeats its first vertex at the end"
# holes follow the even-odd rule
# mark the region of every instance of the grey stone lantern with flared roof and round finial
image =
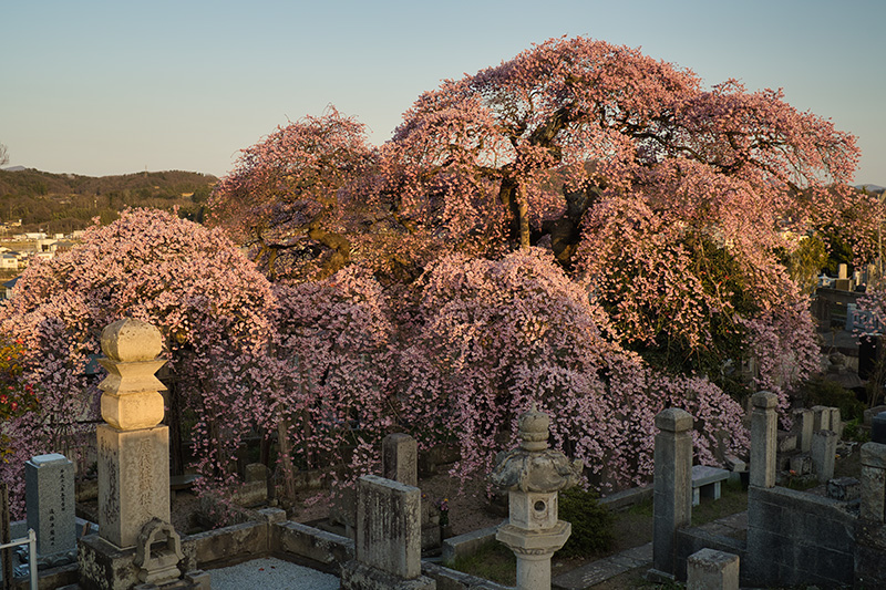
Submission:
POLYGON ((549 424, 533 405, 519 417, 519 448, 499 453, 490 476, 508 494, 508 520, 495 538, 517 558, 517 590, 550 588, 550 557, 573 530, 557 518, 557 494, 578 482, 581 462, 547 447, 549 424))

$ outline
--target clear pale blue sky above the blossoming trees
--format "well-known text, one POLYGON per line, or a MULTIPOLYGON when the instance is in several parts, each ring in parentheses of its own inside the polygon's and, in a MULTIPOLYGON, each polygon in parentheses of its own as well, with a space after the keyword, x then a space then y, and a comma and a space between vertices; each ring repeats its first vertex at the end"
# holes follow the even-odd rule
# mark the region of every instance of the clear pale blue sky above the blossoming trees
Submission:
POLYGON ((441 80, 565 34, 783 87, 886 185, 885 23, 884 0, 0 0, 0 143, 10 166, 220 176, 330 104, 381 144, 441 80))

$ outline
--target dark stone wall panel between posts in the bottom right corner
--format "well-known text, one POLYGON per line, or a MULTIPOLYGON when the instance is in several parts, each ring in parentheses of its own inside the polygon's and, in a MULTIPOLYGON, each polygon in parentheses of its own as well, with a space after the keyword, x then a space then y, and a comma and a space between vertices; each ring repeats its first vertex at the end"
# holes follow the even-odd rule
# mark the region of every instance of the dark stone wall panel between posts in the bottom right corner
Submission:
POLYGON ((783 487, 748 489, 742 583, 852 584, 857 516, 847 503, 783 487))

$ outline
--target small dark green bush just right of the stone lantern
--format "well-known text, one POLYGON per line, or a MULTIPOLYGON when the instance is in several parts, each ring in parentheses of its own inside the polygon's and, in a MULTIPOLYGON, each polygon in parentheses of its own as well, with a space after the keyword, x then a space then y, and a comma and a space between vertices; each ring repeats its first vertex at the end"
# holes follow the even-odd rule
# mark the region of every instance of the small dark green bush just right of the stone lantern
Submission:
POLYGON ((559 495, 559 518, 573 525, 573 534, 559 555, 586 556, 611 549, 615 518, 609 508, 597 500, 593 491, 571 487, 559 495))

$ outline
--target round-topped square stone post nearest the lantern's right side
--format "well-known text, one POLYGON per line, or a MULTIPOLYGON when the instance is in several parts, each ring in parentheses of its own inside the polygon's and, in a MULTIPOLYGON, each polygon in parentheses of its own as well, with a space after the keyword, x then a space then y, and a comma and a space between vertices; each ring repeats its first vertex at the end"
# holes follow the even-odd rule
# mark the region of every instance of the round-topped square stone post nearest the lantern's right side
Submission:
POLYGON ((692 518, 692 416, 669 407, 656 416, 652 576, 674 573, 677 529, 692 518))

